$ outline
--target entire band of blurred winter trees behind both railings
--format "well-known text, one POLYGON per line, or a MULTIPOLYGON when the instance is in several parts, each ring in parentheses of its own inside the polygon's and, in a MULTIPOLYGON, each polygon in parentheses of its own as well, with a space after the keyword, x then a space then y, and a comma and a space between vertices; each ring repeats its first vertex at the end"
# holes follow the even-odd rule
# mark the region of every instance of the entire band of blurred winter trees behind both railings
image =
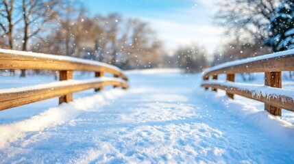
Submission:
POLYGON ((213 23, 224 39, 210 52, 201 40, 179 44, 171 52, 147 20, 119 12, 93 14, 83 1, 54 0, 1 1, 0 48, 81 57, 124 70, 184 68, 186 72, 293 49, 292 1, 211 3, 213 23))

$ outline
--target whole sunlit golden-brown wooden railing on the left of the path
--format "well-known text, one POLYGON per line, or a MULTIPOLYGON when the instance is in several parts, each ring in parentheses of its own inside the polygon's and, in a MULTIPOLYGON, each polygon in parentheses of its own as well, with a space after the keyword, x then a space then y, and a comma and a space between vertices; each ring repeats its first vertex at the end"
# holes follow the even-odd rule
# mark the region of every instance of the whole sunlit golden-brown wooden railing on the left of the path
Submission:
POLYGON ((128 88, 128 79, 119 68, 75 57, 0 49, 0 69, 58 70, 60 76, 59 82, 0 90, 0 111, 56 96, 60 96, 59 103, 61 104, 71 101, 73 92, 90 88, 94 88, 97 92, 103 90, 106 85, 128 88), (95 72, 97 78, 74 81, 71 80, 73 71, 95 72), (103 77, 104 72, 114 74, 114 77, 103 77))

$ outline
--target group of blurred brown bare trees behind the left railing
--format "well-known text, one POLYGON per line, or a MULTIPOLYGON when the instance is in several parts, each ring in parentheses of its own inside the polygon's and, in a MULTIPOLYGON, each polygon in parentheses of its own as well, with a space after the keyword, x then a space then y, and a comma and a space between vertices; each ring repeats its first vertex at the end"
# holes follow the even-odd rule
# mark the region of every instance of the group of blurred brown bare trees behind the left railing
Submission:
POLYGON ((0 15, 1 48, 92 59, 123 69, 162 66, 162 42, 138 18, 88 16, 82 1, 59 0, 0 0, 0 15))

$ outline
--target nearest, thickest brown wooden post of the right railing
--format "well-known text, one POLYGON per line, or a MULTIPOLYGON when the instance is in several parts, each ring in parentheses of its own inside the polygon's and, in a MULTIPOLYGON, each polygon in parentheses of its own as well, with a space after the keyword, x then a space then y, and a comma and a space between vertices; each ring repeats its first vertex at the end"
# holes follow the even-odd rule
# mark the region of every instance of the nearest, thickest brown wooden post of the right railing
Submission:
MULTIPOLYGON (((265 85, 282 87, 282 72, 265 72, 265 85)), ((282 109, 265 103, 265 110, 272 115, 282 115, 282 109)))

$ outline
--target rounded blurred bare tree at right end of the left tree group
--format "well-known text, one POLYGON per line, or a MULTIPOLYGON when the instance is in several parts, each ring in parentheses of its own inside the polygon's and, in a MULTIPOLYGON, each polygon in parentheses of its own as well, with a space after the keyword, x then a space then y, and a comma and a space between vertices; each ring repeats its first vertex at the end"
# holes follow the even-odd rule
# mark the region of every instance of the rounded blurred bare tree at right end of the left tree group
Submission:
POLYGON ((127 21, 120 42, 124 69, 151 66, 162 48, 162 43, 157 40, 149 24, 133 18, 127 21))

